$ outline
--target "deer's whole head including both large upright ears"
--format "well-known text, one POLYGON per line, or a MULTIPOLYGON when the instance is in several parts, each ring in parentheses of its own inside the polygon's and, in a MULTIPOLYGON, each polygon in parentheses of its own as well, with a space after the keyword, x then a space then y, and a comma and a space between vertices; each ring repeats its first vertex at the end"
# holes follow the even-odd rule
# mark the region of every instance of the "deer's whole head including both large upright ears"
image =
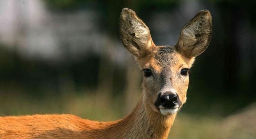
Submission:
POLYGON ((175 46, 156 46, 149 28, 128 8, 122 10, 119 24, 122 43, 143 72, 146 109, 163 115, 176 113, 186 102, 188 70, 211 39, 209 11, 200 11, 182 28, 175 46))

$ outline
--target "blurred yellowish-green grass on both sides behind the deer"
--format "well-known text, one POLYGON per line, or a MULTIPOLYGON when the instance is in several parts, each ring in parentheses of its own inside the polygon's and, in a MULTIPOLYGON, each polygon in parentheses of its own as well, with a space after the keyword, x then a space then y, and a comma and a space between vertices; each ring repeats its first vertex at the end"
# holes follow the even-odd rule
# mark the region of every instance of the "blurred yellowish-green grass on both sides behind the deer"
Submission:
MULTIPOLYGON (((9 95, 0 98, 0 114, 3 116, 66 113, 91 120, 110 121, 126 115, 123 102, 121 96, 98 99, 95 95, 86 93, 43 99, 9 95)), ((255 112, 253 114, 248 112, 246 114, 246 112, 241 112, 238 118, 236 115, 223 118, 214 114, 206 116, 181 111, 177 115, 168 139, 255 139, 256 128, 255 124, 252 124, 252 122, 256 123, 255 112), (248 119, 248 116, 251 119, 248 119), (246 122, 247 119, 253 121, 246 122), (240 123, 234 121, 240 121, 240 123)))

